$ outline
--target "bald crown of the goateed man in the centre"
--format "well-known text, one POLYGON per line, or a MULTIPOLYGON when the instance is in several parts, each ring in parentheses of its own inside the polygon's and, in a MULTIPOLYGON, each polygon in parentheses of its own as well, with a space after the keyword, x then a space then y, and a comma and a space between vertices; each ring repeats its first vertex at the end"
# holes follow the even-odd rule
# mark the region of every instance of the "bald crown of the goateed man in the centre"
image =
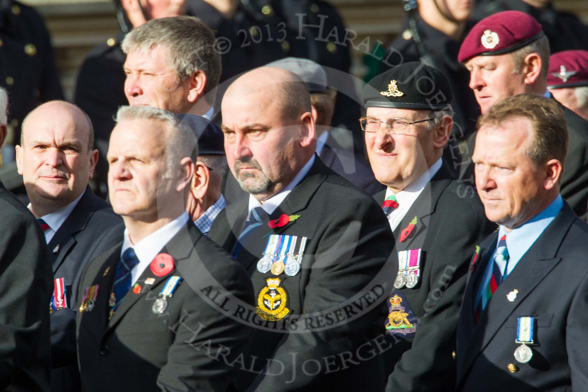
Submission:
POLYGON ((293 121, 302 113, 311 112, 306 83, 293 72, 270 66, 253 69, 236 79, 225 92, 223 102, 225 98, 251 99, 258 94, 276 99, 285 120, 293 121))

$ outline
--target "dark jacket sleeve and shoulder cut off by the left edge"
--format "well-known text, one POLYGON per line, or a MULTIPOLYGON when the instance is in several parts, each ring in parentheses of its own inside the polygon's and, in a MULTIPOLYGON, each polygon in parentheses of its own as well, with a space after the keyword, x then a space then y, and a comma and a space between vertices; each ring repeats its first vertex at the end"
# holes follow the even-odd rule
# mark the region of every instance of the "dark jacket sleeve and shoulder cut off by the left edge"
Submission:
POLYGON ((49 391, 49 253, 35 217, 0 182, 0 390, 49 391))

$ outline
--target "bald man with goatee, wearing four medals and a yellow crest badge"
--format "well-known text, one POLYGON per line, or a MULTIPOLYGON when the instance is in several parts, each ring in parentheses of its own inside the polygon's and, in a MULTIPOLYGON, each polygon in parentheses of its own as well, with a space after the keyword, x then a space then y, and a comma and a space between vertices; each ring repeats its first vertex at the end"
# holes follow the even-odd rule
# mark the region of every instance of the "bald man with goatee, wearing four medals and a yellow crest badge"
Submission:
POLYGON ((397 270, 394 239, 375 200, 316 156, 311 111, 302 79, 271 67, 240 76, 222 100, 227 161, 249 195, 209 237, 253 282, 255 312, 240 315, 256 326, 242 390, 385 383, 380 283, 397 270))

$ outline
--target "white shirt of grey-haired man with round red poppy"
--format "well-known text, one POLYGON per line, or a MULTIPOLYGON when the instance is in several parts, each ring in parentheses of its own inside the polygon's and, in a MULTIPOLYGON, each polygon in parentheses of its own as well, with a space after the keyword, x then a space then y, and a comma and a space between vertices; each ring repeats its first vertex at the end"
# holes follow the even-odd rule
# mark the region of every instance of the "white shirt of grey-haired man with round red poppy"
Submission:
POLYGON ((135 254, 139 259, 139 263, 133 267, 131 270, 131 286, 137 282, 139 276, 145 271, 145 269, 151 264, 155 256, 161 251, 161 249, 175 236, 178 234, 180 229, 186 222, 188 222, 190 217, 188 213, 184 211, 182 215, 178 216, 176 219, 169 222, 167 225, 161 227, 161 229, 156 230, 155 232, 149 234, 141 241, 136 244, 131 243, 131 239, 129 238, 129 230, 125 229, 124 239, 122 241, 122 248, 121 248, 121 256, 125 250, 132 247, 135 250, 135 254))

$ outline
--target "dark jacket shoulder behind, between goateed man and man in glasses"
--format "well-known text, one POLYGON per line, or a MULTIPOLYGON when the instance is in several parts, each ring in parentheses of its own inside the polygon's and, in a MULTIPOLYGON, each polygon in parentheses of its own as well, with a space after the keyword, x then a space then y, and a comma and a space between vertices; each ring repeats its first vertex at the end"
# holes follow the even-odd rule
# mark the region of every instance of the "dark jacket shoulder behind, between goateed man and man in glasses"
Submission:
POLYGON ((375 195, 385 188, 377 182, 368 162, 340 146, 330 134, 319 157, 327 167, 369 195, 375 195))

